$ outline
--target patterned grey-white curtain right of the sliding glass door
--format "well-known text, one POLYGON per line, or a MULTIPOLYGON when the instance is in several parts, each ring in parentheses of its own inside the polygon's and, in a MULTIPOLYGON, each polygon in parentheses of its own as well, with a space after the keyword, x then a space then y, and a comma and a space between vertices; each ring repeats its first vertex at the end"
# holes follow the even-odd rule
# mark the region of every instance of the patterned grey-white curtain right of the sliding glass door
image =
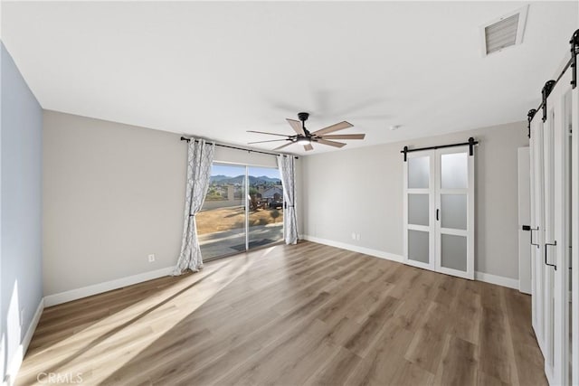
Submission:
POLYGON ((286 244, 296 244, 298 242, 298 219, 295 207, 296 171, 294 157, 291 155, 278 155, 278 167, 280 168, 281 184, 283 185, 285 240, 286 244))

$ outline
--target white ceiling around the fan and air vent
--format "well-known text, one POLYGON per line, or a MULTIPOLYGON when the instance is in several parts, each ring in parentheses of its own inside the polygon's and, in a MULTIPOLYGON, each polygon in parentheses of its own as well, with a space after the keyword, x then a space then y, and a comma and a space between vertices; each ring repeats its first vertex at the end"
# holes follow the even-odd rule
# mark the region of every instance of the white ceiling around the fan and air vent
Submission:
POLYGON ((484 58, 479 26, 527 4, 5 2, 2 40, 46 109, 239 145, 303 110, 366 134, 346 149, 524 120, 579 27, 576 1, 530 3, 484 58))

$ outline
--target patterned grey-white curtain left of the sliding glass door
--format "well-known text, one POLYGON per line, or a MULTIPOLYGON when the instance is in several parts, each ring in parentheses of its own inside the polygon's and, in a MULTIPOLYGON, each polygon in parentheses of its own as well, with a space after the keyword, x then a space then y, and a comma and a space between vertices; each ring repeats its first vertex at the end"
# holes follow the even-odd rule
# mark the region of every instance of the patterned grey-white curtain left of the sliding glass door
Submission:
POLYGON ((173 275, 181 275, 187 268, 194 272, 203 268, 201 249, 199 249, 199 240, 197 240, 195 215, 201 211, 209 187, 214 150, 214 143, 206 143, 204 139, 191 138, 189 140, 183 241, 181 242, 181 254, 176 268, 173 270, 173 275))

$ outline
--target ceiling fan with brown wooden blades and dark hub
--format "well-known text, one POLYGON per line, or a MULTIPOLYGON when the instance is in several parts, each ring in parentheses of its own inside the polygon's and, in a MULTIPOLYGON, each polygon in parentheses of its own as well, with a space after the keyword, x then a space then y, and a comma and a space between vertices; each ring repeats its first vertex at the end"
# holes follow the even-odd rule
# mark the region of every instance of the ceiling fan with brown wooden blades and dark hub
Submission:
POLYGON ((313 150, 314 147, 312 144, 321 144, 327 146, 334 146, 334 147, 342 147, 346 146, 343 142, 336 142, 334 139, 364 139, 365 134, 337 134, 337 135, 327 135, 329 133, 333 133, 338 130, 343 130, 348 127, 353 127, 353 125, 349 122, 343 121, 337 124, 321 128, 313 133, 310 133, 309 130, 306 128, 306 121, 308 120, 309 113, 298 113, 299 120, 289 119, 286 120, 289 123, 289 126, 294 129, 296 132, 293 136, 286 136, 283 134, 277 133, 267 133, 264 131, 253 131, 247 130, 248 133, 258 133, 258 134, 267 134, 269 136, 278 136, 278 137, 286 137, 284 139, 272 139, 269 141, 258 141, 258 142, 249 142, 248 145, 252 144, 262 144, 265 142, 280 142, 280 141, 287 141, 287 144, 283 144, 274 148, 273 150, 280 150, 286 146, 292 144, 302 144, 306 151, 313 150))

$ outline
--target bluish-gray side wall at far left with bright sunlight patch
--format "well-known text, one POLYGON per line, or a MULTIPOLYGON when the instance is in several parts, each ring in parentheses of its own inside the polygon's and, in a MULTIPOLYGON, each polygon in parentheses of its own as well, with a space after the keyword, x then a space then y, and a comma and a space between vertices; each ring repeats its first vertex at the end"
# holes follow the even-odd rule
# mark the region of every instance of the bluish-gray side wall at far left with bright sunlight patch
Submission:
POLYGON ((2 61, 0 366, 14 360, 43 297, 41 249, 43 111, 5 46, 2 61), (24 309, 24 319, 21 312, 24 309))

